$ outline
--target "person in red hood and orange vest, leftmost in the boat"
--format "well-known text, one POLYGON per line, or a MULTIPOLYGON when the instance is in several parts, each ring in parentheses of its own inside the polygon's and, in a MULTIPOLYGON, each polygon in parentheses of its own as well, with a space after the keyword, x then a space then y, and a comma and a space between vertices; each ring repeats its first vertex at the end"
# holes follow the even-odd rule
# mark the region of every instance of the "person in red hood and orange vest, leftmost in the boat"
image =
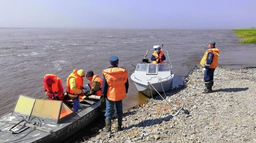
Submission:
POLYGON ((63 100, 64 92, 61 79, 55 74, 46 74, 43 79, 45 95, 49 100, 63 100))

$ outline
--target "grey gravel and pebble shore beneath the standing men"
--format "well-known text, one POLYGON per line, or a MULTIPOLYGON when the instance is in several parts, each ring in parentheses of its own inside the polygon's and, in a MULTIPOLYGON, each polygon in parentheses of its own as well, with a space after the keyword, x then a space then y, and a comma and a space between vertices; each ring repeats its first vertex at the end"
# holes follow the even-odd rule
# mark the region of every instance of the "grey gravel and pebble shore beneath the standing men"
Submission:
POLYGON ((195 67, 185 78, 184 86, 124 112, 122 131, 111 136, 101 131, 85 138, 85 143, 240 143, 256 142, 256 69, 215 70, 214 92, 202 94, 203 71, 195 67))

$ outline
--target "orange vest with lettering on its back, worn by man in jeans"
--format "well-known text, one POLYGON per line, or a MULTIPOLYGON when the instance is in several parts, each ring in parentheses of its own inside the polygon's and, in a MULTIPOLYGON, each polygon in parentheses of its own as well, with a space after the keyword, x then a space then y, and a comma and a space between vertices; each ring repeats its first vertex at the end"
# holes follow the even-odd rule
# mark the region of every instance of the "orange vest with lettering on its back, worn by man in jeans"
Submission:
POLYGON ((126 69, 113 67, 103 70, 102 74, 108 83, 108 100, 119 101, 126 98, 126 88, 124 85, 128 77, 126 69))

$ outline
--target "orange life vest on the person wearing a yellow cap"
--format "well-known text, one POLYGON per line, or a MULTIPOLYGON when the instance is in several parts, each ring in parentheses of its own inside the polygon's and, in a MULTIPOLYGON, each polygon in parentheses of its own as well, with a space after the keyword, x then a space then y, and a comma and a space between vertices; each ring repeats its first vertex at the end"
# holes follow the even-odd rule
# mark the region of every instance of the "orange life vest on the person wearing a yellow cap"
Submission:
POLYGON ((78 97, 81 93, 76 93, 70 89, 69 80, 71 78, 75 78, 76 80, 76 88, 82 89, 83 87, 83 78, 77 74, 77 69, 74 69, 74 71, 69 74, 69 77, 67 78, 67 93, 70 97, 78 97))

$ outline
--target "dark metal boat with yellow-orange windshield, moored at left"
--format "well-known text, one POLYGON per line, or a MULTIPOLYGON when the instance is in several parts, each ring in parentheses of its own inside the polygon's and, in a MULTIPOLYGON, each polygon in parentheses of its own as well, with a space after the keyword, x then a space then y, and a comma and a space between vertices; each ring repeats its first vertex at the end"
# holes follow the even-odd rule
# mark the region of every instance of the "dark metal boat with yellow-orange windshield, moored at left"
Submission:
POLYGON ((88 125, 100 114, 99 96, 80 101, 80 112, 72 102, 20 95, 13 112, 0 118, 1 143, 58 143, 88 125))

